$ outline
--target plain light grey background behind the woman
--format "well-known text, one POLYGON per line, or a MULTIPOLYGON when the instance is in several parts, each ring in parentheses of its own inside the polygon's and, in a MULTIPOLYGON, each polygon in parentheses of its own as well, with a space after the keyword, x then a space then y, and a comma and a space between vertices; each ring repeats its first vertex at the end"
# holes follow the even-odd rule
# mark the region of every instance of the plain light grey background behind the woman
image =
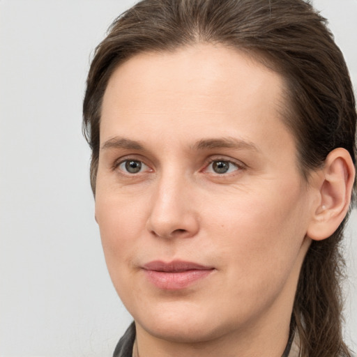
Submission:
MULTIPOLYGON (((89 59, 132 0, 0 0, 0 356, 111 356, 130 322, 93 219, 89 59)), ((357 88, 357 0, 315 0, 357 88)), ((346 338, 357 348, 357 214, 346 338), (352 343, 354 341, 354 343, 352 343)))

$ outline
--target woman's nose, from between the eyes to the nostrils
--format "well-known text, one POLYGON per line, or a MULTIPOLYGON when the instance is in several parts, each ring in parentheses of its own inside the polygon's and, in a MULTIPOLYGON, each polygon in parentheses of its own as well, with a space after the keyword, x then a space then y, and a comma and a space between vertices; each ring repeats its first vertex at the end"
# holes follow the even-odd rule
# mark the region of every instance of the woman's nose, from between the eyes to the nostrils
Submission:
POLYGON ((178 177, 162 177, 151 197, 147 229, 161 238, 190 238, 199 231, 195 188, 178 177))

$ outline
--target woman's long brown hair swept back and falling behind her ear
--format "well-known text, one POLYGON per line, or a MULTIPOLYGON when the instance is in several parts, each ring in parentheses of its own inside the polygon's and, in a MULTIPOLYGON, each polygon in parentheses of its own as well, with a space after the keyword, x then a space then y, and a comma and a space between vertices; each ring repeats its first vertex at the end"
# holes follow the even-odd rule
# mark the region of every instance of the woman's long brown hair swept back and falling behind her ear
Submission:
MULTIPOLYGON (((294 133, 301 173, 324 165, 337 147, 355 160, 356 107, 347 66, 326 20, 303 0, 144 0, 118 17, 98 45, 87 79, 84 135, 92 150, 96 190, 102 97, 123 61, 146 51, 221 43, 248 52, 287 82, 285 122, 294 133)), ((350 356, 342 339, 340 282, 344 222, 313 241, 301 268, 291 326, 301 356, 350 356)))

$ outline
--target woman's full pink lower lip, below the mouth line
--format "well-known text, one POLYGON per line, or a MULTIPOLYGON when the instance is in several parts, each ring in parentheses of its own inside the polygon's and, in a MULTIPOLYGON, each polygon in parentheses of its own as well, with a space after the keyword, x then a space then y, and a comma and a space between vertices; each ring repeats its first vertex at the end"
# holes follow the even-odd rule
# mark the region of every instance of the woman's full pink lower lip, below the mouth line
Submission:
POLYGON ((189 287, 197 280, 206 278, 212 273, 213 269, 195 269, 190 271, 180 271, 176 273, 165 271, 144 270, 149 282, 160 289, 179 290, 189 287))

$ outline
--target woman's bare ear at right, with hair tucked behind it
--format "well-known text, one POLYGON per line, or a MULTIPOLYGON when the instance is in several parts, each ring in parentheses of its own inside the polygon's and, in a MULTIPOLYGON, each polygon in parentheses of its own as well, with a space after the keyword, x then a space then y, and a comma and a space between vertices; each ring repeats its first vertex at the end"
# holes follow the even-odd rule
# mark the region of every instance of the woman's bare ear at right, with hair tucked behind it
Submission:
POLYGON ((321 175, 317 175, 319 200, 307 229, 307 236, 314 241, 331 236, 347 215, 354 176, 354 163, 347 150, 337 148, 328 154, 321 175))

